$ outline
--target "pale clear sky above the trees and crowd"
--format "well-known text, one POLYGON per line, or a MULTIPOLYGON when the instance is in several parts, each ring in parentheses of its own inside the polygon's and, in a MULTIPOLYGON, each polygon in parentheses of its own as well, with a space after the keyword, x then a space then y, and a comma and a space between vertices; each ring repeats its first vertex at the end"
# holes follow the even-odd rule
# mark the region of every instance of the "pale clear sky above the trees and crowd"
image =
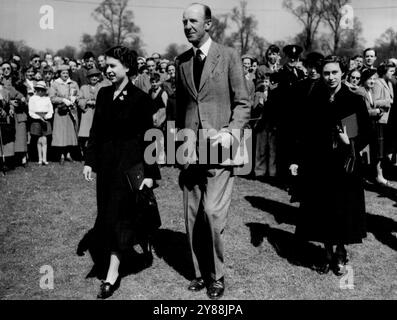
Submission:
MULTIPOLYGON (((95 34, 98 23, 91 13, 102 0, 1 0, 0 38, 24 40, 37 50, 79 47, 83 33, 95 34), (43 30, 40 8, 54 9, 54 29, 43 30)), ((182 13, 193 0, 129 0, 135 23, 141 28, 144 50, 163 53, 170 43, 188 44, 182 13)), ((207 0, 214 15, 230 12, 240 0, 207 0)), ((388 28, 397 29, 397 0, 351 0, 354 14, 363 24, 367 47, 388 28)), ((282 8, 282 0, 248 0, 248 13, 258 20, 258 34, 269 42, 288 41, 302 25, 282 8)), ((1 48, 0 48, 1 52, 1 48)))

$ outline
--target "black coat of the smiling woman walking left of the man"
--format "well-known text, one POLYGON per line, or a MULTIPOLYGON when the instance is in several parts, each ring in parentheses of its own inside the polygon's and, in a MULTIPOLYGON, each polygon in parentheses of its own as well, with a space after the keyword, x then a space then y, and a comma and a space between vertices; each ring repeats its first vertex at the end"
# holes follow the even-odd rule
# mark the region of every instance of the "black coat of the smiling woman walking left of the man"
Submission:
MULTIPOLYGON (((111 251, 131 250, 159 227, 157 221, 143 225, 144 213, 137 212, 125 176, 128 169, 143 161, 143 137, 153 127, 153 103, 130 82, 115 100, 113 93, 113 86, 98 93, 85 162, 97 173, 98 215, 92 240, 104 259, 111 251)), ((159 179, 158 168, 145 164, 145 177, 159 179)))

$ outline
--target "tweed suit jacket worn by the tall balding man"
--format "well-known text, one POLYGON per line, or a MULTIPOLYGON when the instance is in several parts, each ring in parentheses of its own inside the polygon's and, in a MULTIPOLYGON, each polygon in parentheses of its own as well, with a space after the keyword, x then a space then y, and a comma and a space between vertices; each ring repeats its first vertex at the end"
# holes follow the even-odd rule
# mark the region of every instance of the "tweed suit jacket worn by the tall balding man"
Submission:
POLYGON ((251 103, 237 52, 212 42, 199 89, 194 85, 193 48, 176 59, 177 127, 217 131, 243 129, 251 103))

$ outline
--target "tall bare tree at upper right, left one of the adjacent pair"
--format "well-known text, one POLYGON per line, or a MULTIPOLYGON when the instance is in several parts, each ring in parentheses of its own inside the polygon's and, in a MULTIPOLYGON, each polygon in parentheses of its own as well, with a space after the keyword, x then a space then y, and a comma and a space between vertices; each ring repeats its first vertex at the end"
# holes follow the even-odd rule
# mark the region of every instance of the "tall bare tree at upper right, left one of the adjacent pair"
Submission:
POLYGON ((311 51, 324 16, 321 0, 284 0, 283 7, 303 24, 299 39, 305 50, 311 51))

